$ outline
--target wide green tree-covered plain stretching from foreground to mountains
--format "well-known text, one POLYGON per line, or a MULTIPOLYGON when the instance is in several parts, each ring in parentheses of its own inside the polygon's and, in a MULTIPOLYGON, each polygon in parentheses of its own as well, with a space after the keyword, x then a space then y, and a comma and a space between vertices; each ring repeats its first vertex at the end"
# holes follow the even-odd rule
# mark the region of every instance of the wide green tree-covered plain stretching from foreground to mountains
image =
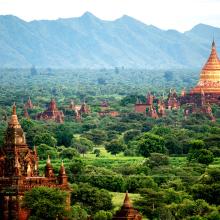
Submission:
MULTIPOLYGON (((0 69, 0 146, 15 102, 28 145, 37 148, 40 173, 49 155, 55 173, 63 160, 71 184, 71 210, 62 213, 65 195, 50 189, 47 219, 62 213, 69 219, 110 220, 128 191, 143 219, 218 220, 220 107, 212 106, 215 122, 199 113, 185 118, 183 108, 166 110, 158 119, 134 112, 136 99, 144 100, 147 92, 166 98, 172 88, 180 94, 198 77, 198 69, 0 69), (28 97, 34 108, 25 118, 28 97), (35 120, 51 98, 64 123, 35 120), (91 113, 76 121, 68 109, 71 100, 85 100, 91 113), (105 100, 117 117, 98 114, 105 100)), ((44 190, 25 195, 31 219, 45 217, 46 198, 39 197, 44 190)))

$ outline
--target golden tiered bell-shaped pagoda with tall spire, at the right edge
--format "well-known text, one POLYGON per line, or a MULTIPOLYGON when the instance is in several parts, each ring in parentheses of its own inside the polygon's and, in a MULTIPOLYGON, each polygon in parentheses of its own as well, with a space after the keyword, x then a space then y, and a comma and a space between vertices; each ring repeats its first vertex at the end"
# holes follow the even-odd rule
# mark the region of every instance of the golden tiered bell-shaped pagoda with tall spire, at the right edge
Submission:
POLYGON ((212 42, 211 54, 200 73, 199 82, 190 93, 220 95, 220 60, 214 40, 212 42))

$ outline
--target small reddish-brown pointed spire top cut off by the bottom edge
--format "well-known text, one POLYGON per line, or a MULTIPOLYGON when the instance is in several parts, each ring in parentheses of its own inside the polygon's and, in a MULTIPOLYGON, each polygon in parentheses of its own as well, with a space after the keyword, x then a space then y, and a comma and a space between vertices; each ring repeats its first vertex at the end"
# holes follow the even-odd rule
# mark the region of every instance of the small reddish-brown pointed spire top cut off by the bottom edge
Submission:
POLYGON ((128 192, 125 194, 124 203, 121 209, 116 212, 113 220, 142 220, 142 216, 137 210, 133 208, 133 205, 129 199, 128 192))

